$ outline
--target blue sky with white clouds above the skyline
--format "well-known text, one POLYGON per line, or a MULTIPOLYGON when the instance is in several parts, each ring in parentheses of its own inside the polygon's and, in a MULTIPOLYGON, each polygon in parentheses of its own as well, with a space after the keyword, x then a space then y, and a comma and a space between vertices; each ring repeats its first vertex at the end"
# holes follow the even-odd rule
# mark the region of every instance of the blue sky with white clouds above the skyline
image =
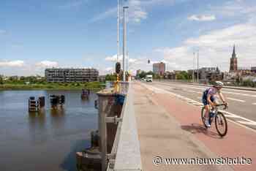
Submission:
MULTIPOLYGON (((132 73, 159 61, 170 71, 192 69, 194 53, 200 67, 228 71, 233 45, 238 66, 256 66, 255 0, 120 1, 129 7, 132 73)), ((48 67, 105 75, 116 62, 116 37, 117 0, 1 0, 0 75, 44 75, 48 67)))

